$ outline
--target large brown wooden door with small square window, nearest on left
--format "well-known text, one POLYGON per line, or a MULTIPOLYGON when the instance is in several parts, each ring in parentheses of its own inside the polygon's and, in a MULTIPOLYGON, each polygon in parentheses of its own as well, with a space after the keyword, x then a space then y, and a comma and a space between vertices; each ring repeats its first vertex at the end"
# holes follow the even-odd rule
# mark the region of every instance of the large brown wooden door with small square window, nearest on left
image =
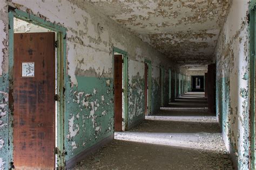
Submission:
POLYGON ((54 42, 53 32, 14 34, 14 166, 17 169, 55 167, 54 42))

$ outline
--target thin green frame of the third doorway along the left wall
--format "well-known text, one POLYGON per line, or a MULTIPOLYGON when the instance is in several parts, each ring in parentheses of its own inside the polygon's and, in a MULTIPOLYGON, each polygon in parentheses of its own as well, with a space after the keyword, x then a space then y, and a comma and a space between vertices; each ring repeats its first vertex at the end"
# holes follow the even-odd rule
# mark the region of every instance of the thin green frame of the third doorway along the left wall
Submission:
POLYGON ((152 84, 152 82, 151 82, 151 79, 152 79, 152 65, 151 65, 151 61, 150 60, 147 60, 147 59, 145 59, 145 63, 147 63, 147 66, 148 66, 148 68, 147 68, 147 82, 148 82, 148 94, 147 94, 147 115, 151 115, 151 84, 152 84))

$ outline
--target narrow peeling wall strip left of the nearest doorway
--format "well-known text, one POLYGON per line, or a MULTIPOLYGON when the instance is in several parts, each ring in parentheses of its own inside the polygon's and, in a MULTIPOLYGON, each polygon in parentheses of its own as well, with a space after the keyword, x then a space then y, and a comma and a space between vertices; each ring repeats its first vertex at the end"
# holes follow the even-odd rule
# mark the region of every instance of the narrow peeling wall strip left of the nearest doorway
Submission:
POLYGON ((0 0, 0 169, 8 168, 8 8, 0 0))

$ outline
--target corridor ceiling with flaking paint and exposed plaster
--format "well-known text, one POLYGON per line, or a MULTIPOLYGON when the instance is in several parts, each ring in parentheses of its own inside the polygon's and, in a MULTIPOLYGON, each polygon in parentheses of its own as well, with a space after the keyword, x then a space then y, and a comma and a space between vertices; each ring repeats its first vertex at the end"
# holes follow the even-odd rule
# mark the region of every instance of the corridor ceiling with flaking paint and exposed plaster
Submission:
MULTIPOLYGON (((213 60, 231 0, 91 0, 106 16, 181 65, 213 60)), ((82 1, 73 1, 81 6, 82 1)))

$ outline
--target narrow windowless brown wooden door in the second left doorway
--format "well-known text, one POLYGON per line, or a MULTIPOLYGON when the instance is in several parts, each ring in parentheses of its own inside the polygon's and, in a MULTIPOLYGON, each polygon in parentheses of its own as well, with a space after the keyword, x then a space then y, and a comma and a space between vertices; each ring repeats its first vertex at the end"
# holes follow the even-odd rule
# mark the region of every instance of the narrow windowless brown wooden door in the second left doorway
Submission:
POLYGON ((114 55, 114 131, 122 131, 122 55, 114 55))

